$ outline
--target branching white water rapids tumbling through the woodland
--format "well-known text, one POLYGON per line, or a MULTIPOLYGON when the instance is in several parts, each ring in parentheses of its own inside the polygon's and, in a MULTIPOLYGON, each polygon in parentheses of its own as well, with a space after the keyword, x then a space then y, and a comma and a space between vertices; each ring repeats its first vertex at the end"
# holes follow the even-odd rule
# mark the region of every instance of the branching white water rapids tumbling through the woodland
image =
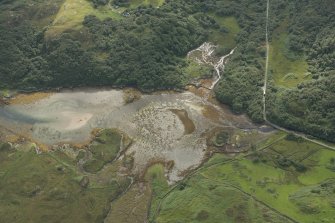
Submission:
POLYGON ((211 90, 220 81, 220 79, 222 77, 220 72, 224 71, 224 67, 226 65, 227 58, 229 56, 231 56, 236 49, 236 48, 232 49, 229 54, 227 54, 225 56, 222 56, 219 59, 217 59, 215 56, 212 56, 212 54, 213 54, 213 52, 215 51, 216 48, 217 48, 217 46, 215 46, 214 44, 209 43, 209 42, 204 42, 197 49, 194 49, 187 54, 187 57, 189 58, 192 54, 194 54, 196 52, 200 52, 201 53, 201 59, 196 57, 195 60, 199 64, 207 64, 207 65, 211 65, 211 66, 214 67, 214 69, 216 71, 216 74, 217 74, 217 79, 212 83, 212 85, 210 87, 211 90))

